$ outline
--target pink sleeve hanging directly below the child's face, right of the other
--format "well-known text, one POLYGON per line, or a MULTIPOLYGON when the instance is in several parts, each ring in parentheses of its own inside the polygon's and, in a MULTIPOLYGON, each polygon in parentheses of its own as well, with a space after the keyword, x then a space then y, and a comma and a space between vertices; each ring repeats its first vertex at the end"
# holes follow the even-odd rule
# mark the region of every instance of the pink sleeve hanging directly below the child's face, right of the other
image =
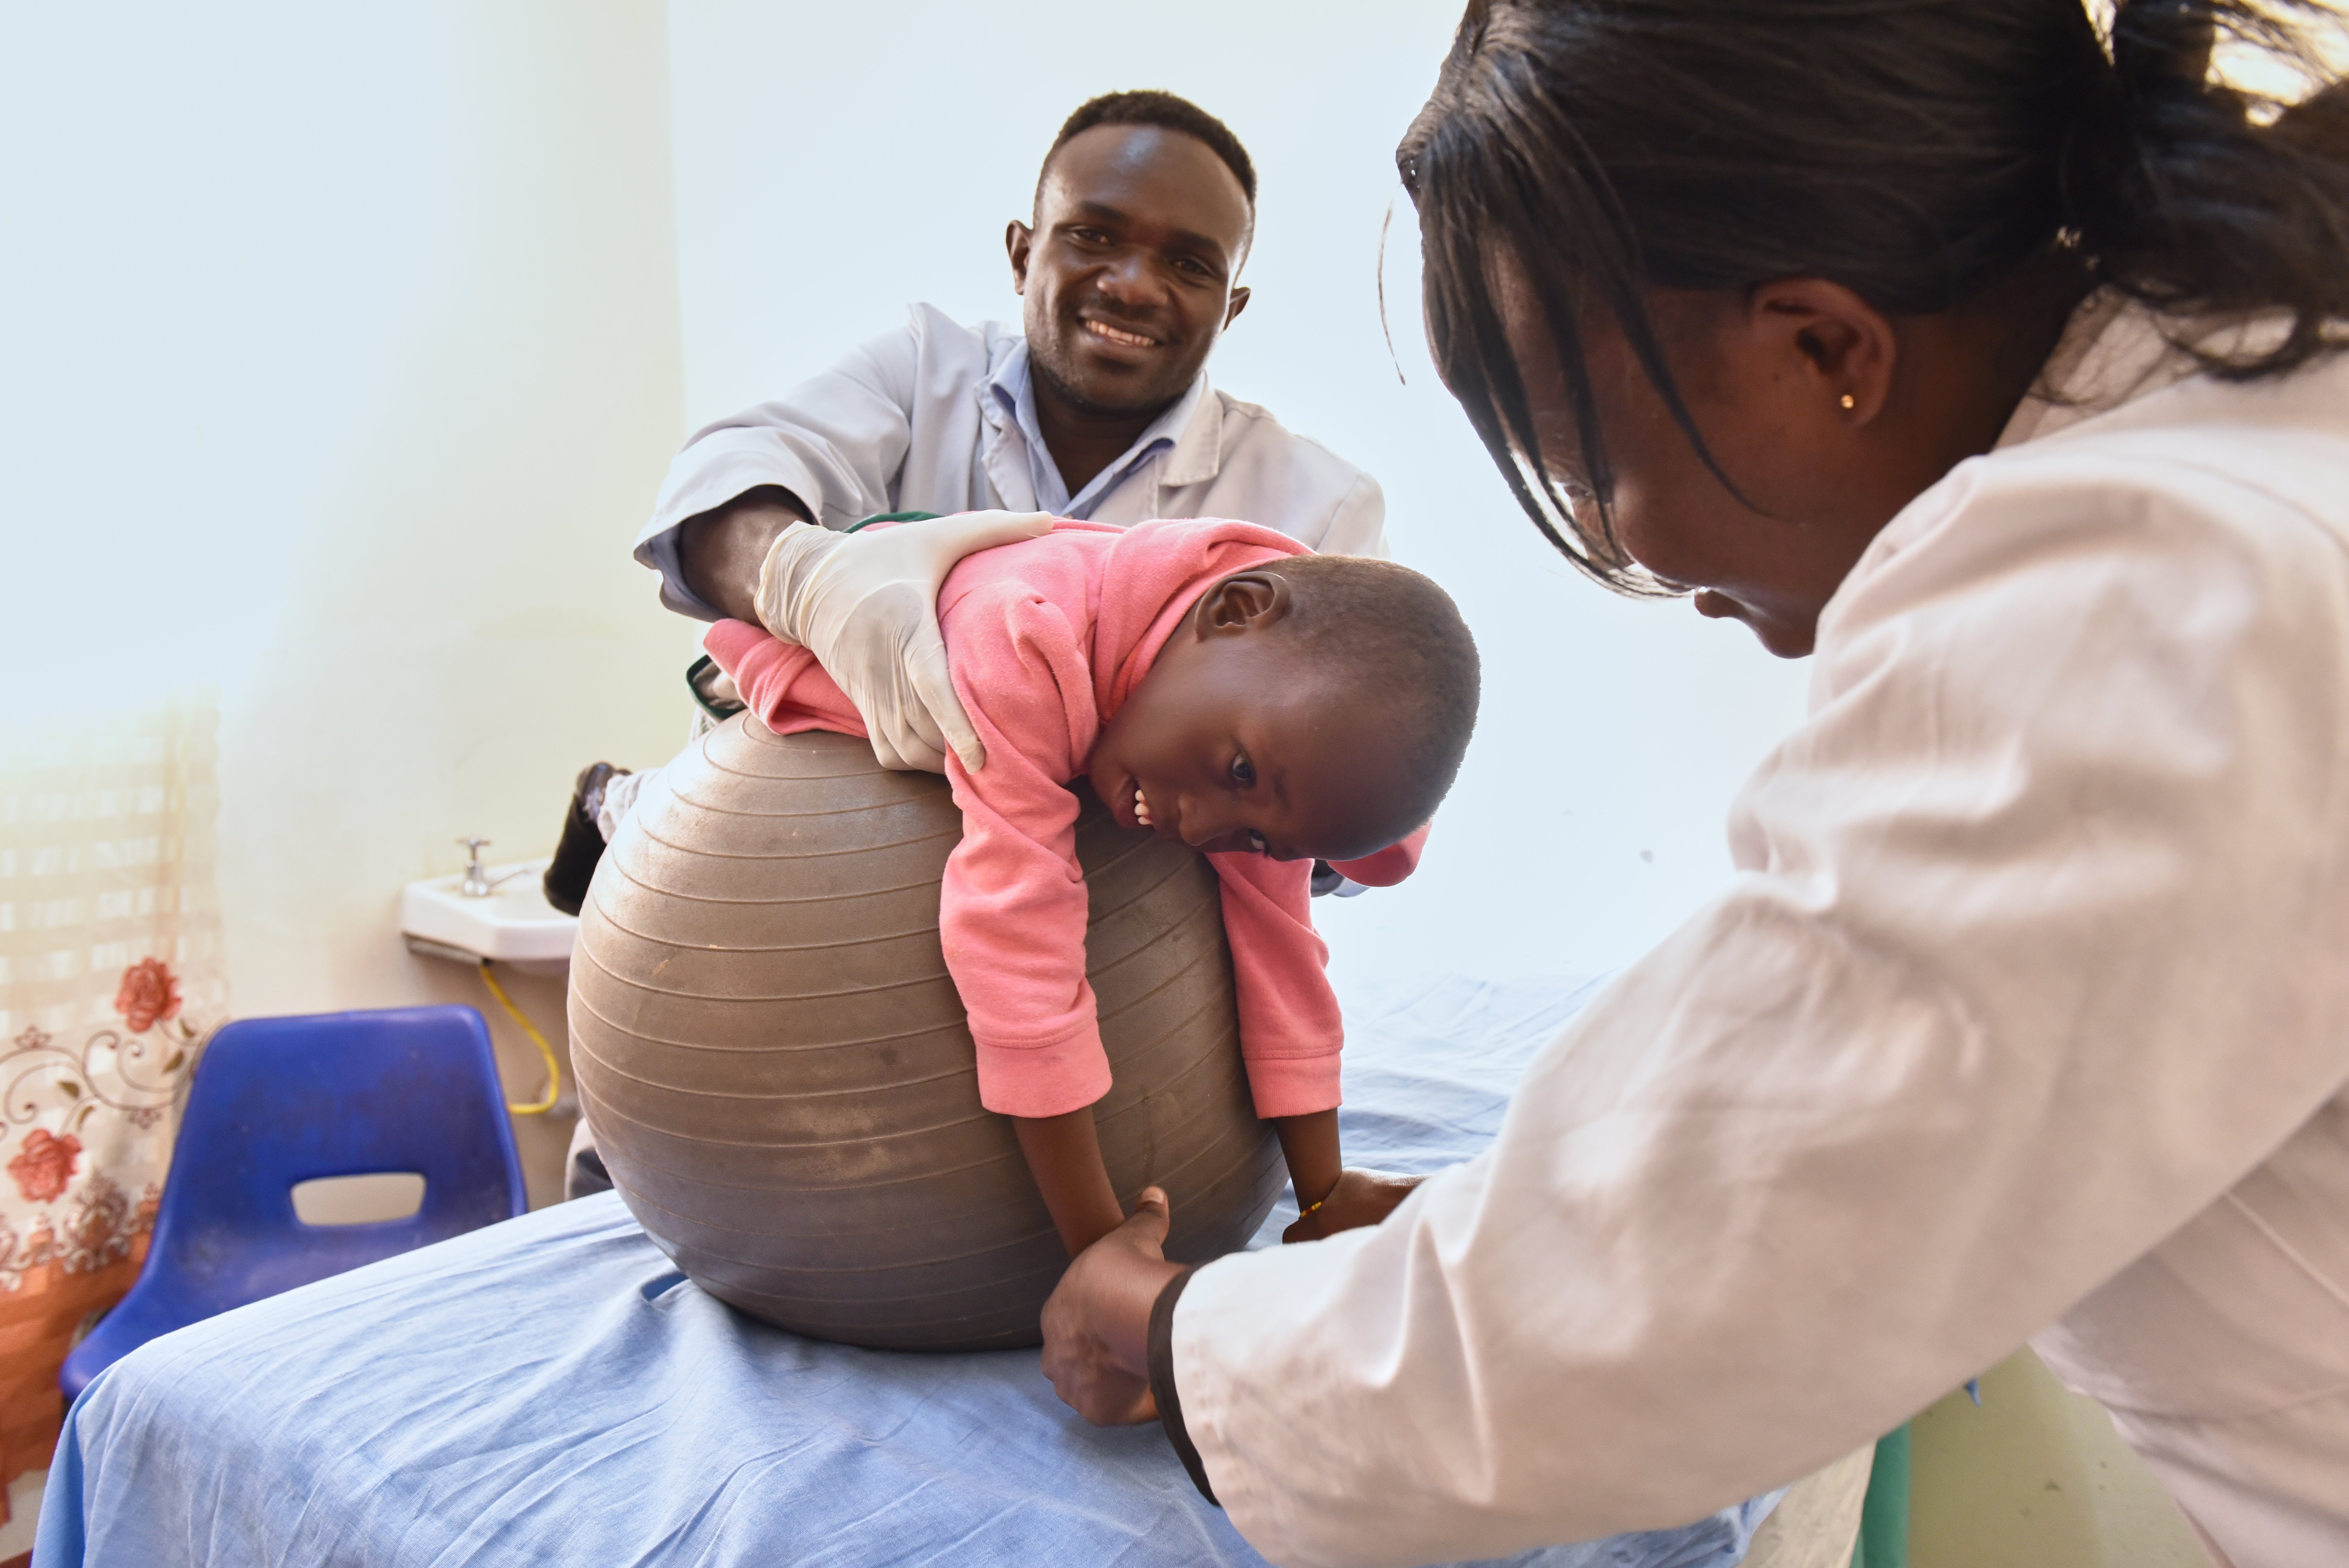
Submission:
POLYGON ((1330 948, 1313 932, 1313 861, 1210 854, 1224 878, 1224 934, 1240 993, 1240 1054, 1257 1115, 1332 1110, 1346 1023, 1330 948))

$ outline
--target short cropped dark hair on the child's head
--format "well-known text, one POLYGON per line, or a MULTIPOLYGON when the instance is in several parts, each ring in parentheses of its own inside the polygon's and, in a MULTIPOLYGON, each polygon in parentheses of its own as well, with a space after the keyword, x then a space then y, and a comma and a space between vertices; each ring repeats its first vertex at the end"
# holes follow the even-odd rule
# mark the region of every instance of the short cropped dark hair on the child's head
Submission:
POLYGON ((1374 556, 1292 556, 1257 570, 1287 577, 1283 629, 1301 650, 1395 714, 1407 763, 1398 807, 1409 817, 1398 838, 1426 824, 1475 732, 1480 662, 1452 594, 1374 556))

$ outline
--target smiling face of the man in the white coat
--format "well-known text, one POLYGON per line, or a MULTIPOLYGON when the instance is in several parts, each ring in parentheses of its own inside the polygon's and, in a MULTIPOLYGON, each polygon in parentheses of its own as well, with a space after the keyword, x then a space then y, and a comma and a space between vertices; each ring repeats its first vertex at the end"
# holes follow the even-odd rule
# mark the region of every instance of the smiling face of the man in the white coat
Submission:
POLYGON ((1012 223, 1012 282, 1036 371, 1090 413, 1165 408, 1198 376, 1247 289, 1254 214, 1207 143, 1156 124, 1071 136, 1012 223))

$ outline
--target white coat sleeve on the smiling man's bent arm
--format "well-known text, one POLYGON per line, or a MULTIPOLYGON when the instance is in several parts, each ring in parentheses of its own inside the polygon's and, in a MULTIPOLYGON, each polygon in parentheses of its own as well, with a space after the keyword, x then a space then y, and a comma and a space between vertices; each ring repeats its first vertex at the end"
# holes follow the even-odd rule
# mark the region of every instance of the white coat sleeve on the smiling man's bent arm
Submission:
POLYGON ((669 462, 653 519, 637 535, 637 561, 660 573, 660 601, 684 615, 719 620, 684 582, 679 526, 745 491, 775 484, 829 528, 890 509, 890 479, 904 465, 921 373, 921 317, 857 345, 822 376, 785 397, 707 425, 669 462))

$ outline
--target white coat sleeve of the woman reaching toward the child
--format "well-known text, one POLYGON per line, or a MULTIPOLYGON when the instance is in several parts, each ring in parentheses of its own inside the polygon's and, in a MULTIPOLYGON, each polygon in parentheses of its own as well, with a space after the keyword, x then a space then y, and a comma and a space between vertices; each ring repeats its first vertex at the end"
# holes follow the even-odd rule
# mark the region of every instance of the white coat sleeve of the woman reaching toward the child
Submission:
POLYGON ((2349 1080, 2340 542, 2232 479, 2037 451, 1879 538, 1738 798, 1736 880, 1482 1157, 1191 1277, 1182 1415, 1276 1563, 1499 1556, 1806 1474, 2349 1080))

